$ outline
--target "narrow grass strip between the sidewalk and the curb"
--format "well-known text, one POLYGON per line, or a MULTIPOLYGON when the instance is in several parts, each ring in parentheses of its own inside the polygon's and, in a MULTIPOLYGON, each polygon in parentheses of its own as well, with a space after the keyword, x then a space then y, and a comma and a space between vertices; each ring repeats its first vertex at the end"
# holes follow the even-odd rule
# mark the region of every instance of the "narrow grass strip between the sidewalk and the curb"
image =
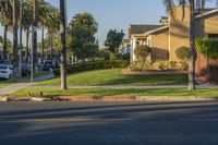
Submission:
MULTIPOLYGON (((218 97, 218 90, 214 89, 196 89, 187 90, 183 88, 173 89, 114 89, 114 88, 72 88, 60 90, 59 88, 35 87, 33 93, 43 92, 46 96, 208 96, 218 97)), ((11 96, 24 97, 31 88, 21 89, 11 96)))

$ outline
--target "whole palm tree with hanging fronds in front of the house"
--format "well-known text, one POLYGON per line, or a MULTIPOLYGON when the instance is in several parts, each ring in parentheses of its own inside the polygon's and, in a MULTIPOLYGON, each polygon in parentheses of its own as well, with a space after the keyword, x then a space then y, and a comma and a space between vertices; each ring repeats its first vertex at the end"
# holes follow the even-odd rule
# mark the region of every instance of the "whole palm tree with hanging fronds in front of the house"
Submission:
MULTIPOLYGON (((194 25, 194 19, 195 19, 195 11, 202 11, 204 10, 205 2, 207 0, 178 0, 179 4, 183 8, 183 15, 184 15, 184 7, 186 3, 190 4, 190 67, 189 67, 189 89, 195 89, 195 46, 194 46, 194 38, 195 38, 195 25, 194 25)), ((174 2, 173 0, 164 0, 164 4, 167 8, 167 11, 172 15, 173 17, 173 7, 174 2)), ((183 16, 182 15, 182 16, 183 16)))

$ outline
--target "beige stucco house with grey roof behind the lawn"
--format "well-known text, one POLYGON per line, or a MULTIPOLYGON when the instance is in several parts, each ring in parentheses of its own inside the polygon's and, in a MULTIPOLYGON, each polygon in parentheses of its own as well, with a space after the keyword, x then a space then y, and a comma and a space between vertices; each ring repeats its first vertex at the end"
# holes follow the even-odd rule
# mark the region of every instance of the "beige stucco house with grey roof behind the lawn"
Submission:
MULTIPOLYGON (((184 10, 182 17, 182 7, 174 8, 174 15, 160 19, 159 25, 131 25, 129 37, 131 43, 131 61, 136 57, 134 49, 138 45, 147 45, 153 48, 152 61, 169 60, 179 61, 175 50, 190 46, 190 9, 184 10)), ((218 9, 207 9, 204 14, 195 14, 195 36, 218 38, 218 9)))

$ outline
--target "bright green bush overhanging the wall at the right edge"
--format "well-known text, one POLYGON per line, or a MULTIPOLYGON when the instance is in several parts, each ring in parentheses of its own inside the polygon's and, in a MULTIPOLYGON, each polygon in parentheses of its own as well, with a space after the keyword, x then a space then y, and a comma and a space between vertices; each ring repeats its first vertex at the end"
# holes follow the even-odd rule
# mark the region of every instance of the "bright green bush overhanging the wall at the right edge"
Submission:
POLYGON ((209 38, 196 38, 195 48, 198 52, 210 59, 218 59, 218 40, 209 38))

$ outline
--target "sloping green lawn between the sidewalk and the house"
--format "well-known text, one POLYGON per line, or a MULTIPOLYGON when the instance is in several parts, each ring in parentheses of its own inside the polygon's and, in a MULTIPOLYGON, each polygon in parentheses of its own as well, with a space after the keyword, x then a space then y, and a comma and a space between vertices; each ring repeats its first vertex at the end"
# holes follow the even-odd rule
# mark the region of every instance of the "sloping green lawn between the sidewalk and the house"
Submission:
MULTIPOLYGON (((120 69, 88 71, 68 76, 68 85, 186 85, 186 74, 124 75, 120 69)), ((60 77, 38 85, 60 85, 60 77)))

